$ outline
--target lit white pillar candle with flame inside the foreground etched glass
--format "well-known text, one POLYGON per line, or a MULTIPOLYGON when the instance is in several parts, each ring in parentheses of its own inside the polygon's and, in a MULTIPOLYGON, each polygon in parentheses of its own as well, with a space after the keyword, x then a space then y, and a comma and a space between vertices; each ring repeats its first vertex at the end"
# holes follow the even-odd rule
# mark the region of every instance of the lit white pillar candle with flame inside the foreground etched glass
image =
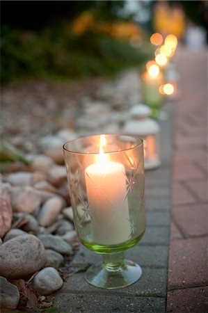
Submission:
POLYGON ((86 190, 93 241, 114 245, 130 239, 127 186, 125 167, 109 161, 102 150, 104 141, 105 137, 101 135, 97 163, 85 170, 86 190))

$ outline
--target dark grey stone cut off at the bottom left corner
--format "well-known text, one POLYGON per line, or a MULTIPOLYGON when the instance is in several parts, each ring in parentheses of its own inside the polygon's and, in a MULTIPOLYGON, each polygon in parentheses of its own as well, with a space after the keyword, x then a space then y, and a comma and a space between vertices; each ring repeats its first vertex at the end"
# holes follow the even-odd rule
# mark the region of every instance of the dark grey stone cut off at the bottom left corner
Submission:
POLYGON ((0 276, 0 303, 1 309, 15 309, 19 303, 19 290, 8 280, 0 276))

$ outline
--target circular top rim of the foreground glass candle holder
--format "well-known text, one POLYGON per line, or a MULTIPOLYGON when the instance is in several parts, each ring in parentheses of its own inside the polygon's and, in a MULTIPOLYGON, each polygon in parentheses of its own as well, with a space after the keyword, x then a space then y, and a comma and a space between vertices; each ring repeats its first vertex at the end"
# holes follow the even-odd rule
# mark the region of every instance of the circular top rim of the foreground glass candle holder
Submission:
POLYGON ((131 135, 131 134, 95 134, 95 135, 90 135, 90 136, 81 136, 79 138, 74 138, 72 139, 71 141, 67 141, 66 143, 64 143, 63 145, 63 150, 67 153, 70 153, 70 154, 88 154, 88 155, 97 155, 98 153, 97 152, 80 152, 80 151, 73 151, 73 150, 69 150, 66 148, 66 146, 69 144, 69 143, 73 143, 75 141, 81 141, 81 140, 84 140, 86 138, 93 138, 93 137, 97 137, 97 136, 102 136, 102 135, 105 135, 105 136, 117 136, 117 137, 129 137, 129 138, 134 138, 136 140, 135 142, 135 145, 133 147, 128 147, 126 149, 121 149, 121 150, 116 150, 116 151, 111 151, 111 152, 104 152, 104 154, 113 154, 113 153, 118 153, 118 152, 125 152, 125 151, 129 151, 129 150, 132 150, 132 149, 135 149, 136 147, 141 147, 143 145, 143 139, 140 138, 139 136, 136 136, 136 135, 131 135))

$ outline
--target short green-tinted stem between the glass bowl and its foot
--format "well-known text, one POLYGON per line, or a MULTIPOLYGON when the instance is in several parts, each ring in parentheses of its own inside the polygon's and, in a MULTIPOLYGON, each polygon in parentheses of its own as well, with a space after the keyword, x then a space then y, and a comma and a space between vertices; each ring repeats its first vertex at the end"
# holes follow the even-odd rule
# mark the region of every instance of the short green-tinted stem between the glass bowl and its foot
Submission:
POLYGON ((109 272, 121 271, 125 267, 125 256, 123 252, 106 253, 102 258, 104 267, 109 272))

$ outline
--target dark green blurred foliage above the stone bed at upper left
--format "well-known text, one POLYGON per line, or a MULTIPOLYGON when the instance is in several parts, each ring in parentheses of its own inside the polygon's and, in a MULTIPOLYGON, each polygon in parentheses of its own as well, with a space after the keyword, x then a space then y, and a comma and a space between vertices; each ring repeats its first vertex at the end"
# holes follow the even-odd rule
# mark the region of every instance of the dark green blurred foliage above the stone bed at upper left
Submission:
POLYGON ((70 79, 111 75, 150 55, 128 41, 86 32, 74 35, 68 22, 39 32, 1 29, 1 83, 17 79, 70 79))

